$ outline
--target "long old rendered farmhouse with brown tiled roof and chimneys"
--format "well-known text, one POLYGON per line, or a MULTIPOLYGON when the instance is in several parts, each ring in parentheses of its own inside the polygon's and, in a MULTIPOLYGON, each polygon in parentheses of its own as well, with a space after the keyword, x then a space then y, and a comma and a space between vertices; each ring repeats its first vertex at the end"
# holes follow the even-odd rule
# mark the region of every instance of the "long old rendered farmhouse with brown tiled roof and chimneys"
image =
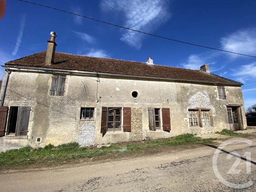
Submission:
POLYGON ((200 70, 46 51, 5 63, 0 150, 246 127, 242 83, 200 70))

